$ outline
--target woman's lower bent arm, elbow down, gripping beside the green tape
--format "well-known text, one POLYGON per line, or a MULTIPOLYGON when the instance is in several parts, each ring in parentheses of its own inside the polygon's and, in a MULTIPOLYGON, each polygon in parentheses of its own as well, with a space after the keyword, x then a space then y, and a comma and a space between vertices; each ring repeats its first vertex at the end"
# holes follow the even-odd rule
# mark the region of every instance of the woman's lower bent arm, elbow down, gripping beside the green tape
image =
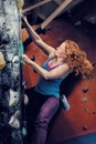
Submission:
POLYGON ((61 64, 60 66, 46 71, 43 68, 41 68, 38 63, 34 61, 31 61, 25 54, 22 55, 22 60, 33 66, 33 69, 39 73, 39 75, 43 76, 45 80, 52 80, 57 78, 63 78, 64 75, 70 72, 70 66, 67 64, 61 64))

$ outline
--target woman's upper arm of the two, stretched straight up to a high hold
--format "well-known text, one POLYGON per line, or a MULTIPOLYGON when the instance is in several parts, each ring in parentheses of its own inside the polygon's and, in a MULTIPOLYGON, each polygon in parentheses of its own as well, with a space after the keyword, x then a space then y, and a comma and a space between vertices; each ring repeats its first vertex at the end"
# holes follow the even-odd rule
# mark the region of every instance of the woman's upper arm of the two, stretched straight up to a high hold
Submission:
POLYGON ((31 39, 34 41, 34 43, 36 45, 40 47, 40 49, 46 53, 47 55, 54 54, 55 49, 49 44, 46 44, 41 38, 40 35, 33 30, 33 28, 30 25, 30 23, 28 22, 26 18, 23 16, 23 23, 26 28, 28 33, 30 34, 31 39))

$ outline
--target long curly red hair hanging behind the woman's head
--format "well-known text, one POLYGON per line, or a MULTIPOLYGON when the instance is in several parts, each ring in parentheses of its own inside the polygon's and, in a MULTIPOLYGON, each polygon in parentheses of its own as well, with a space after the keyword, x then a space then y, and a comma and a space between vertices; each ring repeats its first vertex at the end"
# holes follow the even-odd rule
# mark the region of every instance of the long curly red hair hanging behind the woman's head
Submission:
POLYGON ((66 62, 76 72, 76 75, 81 74, 83 79, 94 78, 94 66, 87 59, 86 52, 76 42, 66 40, 65 53, 66 62))

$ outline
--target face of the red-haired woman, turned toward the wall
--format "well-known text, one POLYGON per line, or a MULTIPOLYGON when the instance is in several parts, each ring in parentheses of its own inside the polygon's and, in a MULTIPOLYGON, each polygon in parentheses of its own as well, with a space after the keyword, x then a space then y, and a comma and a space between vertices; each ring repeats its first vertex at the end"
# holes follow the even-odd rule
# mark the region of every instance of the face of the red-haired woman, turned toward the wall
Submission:
POLYGON ((60 47, 56 48, 55 55, 65 60, 65 42, 63 42, 60 47))

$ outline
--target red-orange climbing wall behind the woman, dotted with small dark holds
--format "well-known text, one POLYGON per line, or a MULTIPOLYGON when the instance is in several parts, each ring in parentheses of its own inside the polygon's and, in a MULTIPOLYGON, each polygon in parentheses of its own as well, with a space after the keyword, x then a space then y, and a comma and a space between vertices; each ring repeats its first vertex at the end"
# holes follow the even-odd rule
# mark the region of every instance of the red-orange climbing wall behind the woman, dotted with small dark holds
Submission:
MULTIPOLYGON (((42 39, 53 47, 57 47, 66 39, 75 40, 81 47, 86 50, 89 60, 96 62, 96 42, 76 30, 74 27, 64 22, 63 19, 54 20, 47 28, 49 30, 42 39)), ((26 31, 23 29, 23 40, 28 37, 26 31)), ((38 49, 34 43, 31 43, 25 53, 31 56, 35 55, 35 61, 42 64, 46 55, 38 49)), ((39 79, 31 66, 24 65, 24 79, 26 81, 26 89, 34 86, 39 79)), ((96 131, 96 76, 89 81, 79 82, 74 91, 68 96, 71 105, 70 111, 61 110, 57 119, 55 120, 52 131, 50 133, 47 144, 56 144, 73 136, 86 134, 96 131), (86 93, 83 92, 84 88, 88 88, 86 93)))

